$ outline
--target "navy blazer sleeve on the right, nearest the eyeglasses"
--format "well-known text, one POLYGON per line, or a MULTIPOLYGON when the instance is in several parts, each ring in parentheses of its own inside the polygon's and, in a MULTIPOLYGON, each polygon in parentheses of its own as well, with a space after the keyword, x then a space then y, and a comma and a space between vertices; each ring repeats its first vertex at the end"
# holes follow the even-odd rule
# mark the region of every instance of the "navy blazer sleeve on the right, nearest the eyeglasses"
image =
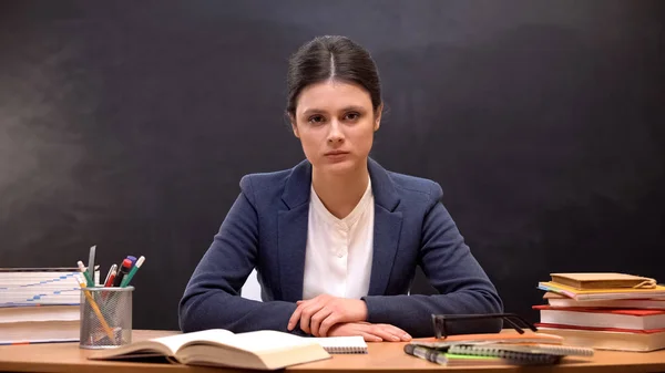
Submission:
MULTIPOLYGON (((440 203, 441 187, 432 183, 424 216, 419 265, 439 294, 365 297, 368 321, 390 323, 411 335, 433 335, 432 314, 501 313, 503 302, 472 256, 450 214, 440 203)), ((501 320, 453 322, 447 332, 497 332, 501 320)))

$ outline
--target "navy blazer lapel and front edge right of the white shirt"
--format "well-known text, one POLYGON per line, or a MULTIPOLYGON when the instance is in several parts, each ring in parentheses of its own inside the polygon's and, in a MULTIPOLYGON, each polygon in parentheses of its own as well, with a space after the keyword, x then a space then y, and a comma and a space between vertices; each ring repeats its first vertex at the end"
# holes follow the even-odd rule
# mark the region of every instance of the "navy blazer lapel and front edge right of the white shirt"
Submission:
POLYGON ((399 196, 386 169, 368 159, 375 197, 375 227, 371 276, 368 296, 382 296, 388 287, 402 225, 401 211, 395 211, 399 196))

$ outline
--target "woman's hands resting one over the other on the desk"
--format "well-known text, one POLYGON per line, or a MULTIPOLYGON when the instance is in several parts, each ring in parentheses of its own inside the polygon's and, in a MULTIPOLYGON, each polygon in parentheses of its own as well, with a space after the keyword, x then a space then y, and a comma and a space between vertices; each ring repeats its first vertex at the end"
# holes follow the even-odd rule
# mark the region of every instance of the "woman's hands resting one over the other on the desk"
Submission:
POLYGON ((321 294, 298 301, 288 320, 287 329, 300 329, 314 336, 362 335, 366 341, 409 341, 403 330, 389 324, 371 324, 367 320, 367 305, 358 299, 344 299, 321 294))

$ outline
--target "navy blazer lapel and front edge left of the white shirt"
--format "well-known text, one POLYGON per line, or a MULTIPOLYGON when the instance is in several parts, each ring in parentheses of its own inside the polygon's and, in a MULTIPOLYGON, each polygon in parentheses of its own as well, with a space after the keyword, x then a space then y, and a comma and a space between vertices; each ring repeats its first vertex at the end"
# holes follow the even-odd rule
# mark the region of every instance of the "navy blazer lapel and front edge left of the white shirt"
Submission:
POLYGON ((278 213, 277 247, 282 298, 287 302, 303 299, 310 186, 311 165, 304 160, 294 167, 282 195, 286 209, 278 213))

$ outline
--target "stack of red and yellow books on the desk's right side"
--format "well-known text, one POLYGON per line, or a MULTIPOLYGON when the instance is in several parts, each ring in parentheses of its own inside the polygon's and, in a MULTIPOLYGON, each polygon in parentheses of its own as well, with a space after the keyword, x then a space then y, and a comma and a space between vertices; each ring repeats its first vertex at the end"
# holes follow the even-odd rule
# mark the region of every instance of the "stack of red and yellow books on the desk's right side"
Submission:
POLYGON ((626 273, 551 273, 540 282, 539 330, 570 345, 601 350, 665 349, 665 287, 626 273))

